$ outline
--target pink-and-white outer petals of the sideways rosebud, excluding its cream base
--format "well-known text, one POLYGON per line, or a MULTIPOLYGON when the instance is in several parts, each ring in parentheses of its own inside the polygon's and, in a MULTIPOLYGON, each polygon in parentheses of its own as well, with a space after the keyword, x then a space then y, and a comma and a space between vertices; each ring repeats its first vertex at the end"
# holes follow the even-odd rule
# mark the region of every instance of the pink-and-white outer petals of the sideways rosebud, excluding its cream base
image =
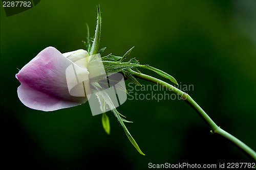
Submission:
MULTIPOLYGON (((66 69, 71 64, 74 63, 54 47, 42 50, 16 74, 21 83, 17 90, 19 100, 29 108, 42 111, 53 111, 85 103, 85 95, 77 97, 69 93, 66 69)), ((85 74, 89 75, 89 72, 85 74)))

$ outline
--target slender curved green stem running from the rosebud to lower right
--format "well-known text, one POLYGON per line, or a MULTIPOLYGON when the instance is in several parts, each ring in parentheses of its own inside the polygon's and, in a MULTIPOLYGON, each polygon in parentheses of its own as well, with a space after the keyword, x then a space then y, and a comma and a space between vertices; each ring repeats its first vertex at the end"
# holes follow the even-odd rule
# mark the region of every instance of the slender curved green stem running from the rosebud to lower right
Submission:
POLYGON ((186 103, 188 103, 193 109, 195 109, 199 115, 204 119, 204 121, 208 124, 208 126, 211 129, 211 133, 221 135, 222 137, 228 139, 231 141, 236 147, 241 149, 245 154, 247 154, 249 157, 251 157, 254 161, 256 161, 256 153, 249 148, 245 143, 243 143, 238 138, 234 137, 233 135, 227 133, 220 127, 218 127, 215 122, 205 113, 205 111, 185 92, 181 91, 180 89, 162 81, 157 78, 144 75, 142 73, 138 73, 135 71, 132 71, 134 76, 146 81, 150 81, 159 85, 162 85, 166 87, 167 89, 171 89, 174 93, 178 94, 186 103))

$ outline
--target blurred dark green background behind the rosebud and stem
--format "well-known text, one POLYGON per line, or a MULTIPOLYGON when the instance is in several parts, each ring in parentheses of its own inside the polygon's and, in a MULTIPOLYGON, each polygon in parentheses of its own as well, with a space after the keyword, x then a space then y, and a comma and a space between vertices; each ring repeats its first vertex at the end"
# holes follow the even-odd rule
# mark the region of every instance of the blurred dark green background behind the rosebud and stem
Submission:
MULTIPOLYGON (((168 72, 183 85, 194 85, 187 92, 217 125, 256 150, 255 1, 41 1, 9 17, 1 5, 4 163, 27 169, 147 169, 150 162, 253 162, 212 135, 180 100, 127 100, 118 107, 134 122, 126 127, 145 156, 136 151, 111 112, 107 135, 101 115, 92 116, 88 103, 42 112, 19 101, 17 68, 47 46, 62 53, 84 48, 86 23, 94 34, 97 4, 104 55, 123 55, 135 46, 130 57, 168 72)), ((138 91, 143 92, 151 91, 138 91)))

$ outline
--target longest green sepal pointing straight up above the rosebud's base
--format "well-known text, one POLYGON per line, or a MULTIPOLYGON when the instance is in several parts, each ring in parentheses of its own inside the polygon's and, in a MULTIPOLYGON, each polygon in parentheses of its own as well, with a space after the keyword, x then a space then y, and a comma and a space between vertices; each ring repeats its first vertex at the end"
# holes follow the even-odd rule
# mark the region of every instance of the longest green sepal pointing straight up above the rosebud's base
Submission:
POLYGON ((95 55, 98 53, 99 50, 99 40, 100 40, 100 32, 101 32, 101 18, 100 18, 100 8, 99 5, 97 5, 97 25, 95 30, 95 36, 93 39, 93 44, 90 50, 90 56, 95 55))

